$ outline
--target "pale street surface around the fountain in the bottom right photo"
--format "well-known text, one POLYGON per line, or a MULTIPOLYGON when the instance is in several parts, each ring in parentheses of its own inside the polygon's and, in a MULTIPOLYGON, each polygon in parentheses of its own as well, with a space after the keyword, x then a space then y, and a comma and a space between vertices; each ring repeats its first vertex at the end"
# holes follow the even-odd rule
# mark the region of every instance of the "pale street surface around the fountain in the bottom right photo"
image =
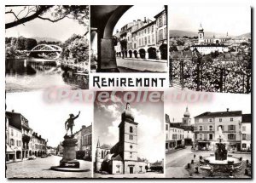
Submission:
MULTIPOLYGON (((184 167, 191 163, 194 154, 196 155, 195 159, 198 159, 200 156, 210 156, 210 153, 212 152, 191 152, 191 146, 187 146, 185 149, 166 154, 166 178, 189 178, 189 172, 184 167)), ((251 154, 231 154, 251 162, 251 154)))

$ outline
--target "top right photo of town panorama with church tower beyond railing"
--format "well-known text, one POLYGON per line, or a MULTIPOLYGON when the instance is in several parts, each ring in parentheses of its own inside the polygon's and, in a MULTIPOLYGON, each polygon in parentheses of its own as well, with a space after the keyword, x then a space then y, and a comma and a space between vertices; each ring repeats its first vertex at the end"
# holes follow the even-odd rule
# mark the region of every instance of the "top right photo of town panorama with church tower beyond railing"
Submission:
POLYGON ((169 7, 170 86, 250 94, 250 7, 169 7))

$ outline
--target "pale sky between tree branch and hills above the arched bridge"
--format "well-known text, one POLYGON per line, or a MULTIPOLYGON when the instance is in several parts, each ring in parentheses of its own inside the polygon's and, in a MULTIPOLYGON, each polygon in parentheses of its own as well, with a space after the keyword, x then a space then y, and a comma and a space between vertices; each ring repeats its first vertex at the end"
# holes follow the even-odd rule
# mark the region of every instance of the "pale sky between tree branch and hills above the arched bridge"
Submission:
MULTIPOLYGON (((21 8, 12 8, 13 11, 20 12, 21 8)), ((22 14, 20 14, 22 15, 22 14)), ((22 16, 21 16, 22 17, 22 16)), ((44 17, 50 17, 49 13, 44 17)), ((14 15, 5 15, 5 22, 14 20, 14 15)), ((85 27, 79 25, 78 21, 72 19, 63 19, 52 23, 48 20, 34 19, 26 22, 24 25, 15 26, 5 30, 5 37, 51 37, 61 42, 66 41, 74 33, 84 35, 85 27)))

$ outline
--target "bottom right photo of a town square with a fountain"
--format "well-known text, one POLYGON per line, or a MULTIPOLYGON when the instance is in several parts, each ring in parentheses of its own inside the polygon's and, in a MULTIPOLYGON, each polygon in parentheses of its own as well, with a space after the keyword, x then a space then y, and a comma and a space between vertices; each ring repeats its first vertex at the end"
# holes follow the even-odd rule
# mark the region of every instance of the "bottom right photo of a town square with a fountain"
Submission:
POLYGON ((252 178, 250 94, 165 103, 166 178, 252 178), (175 107, 174 107, 175 106, 175 107))

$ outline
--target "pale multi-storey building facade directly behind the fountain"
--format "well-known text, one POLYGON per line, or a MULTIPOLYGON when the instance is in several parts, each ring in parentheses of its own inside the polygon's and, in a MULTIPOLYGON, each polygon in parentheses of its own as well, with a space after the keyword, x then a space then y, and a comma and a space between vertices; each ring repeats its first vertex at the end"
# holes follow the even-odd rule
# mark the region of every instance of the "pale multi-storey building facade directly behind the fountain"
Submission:
POLYGON ((198 150, 213 150, 214 142, 220 134, 226 144, 227 150, 231 152, 241 151, 250 144, 250 125, 244 118, 242 124, 242 112, 204 112, 195 117, 195 144, 198 150), (242 129, 242 126, 247 126, 242 129), (248 129, 248 131, 247 131, 248 129), (244 135, 242 134, 244 130, 244 135), (242 145, 242 137, 247 141, 242 145))

